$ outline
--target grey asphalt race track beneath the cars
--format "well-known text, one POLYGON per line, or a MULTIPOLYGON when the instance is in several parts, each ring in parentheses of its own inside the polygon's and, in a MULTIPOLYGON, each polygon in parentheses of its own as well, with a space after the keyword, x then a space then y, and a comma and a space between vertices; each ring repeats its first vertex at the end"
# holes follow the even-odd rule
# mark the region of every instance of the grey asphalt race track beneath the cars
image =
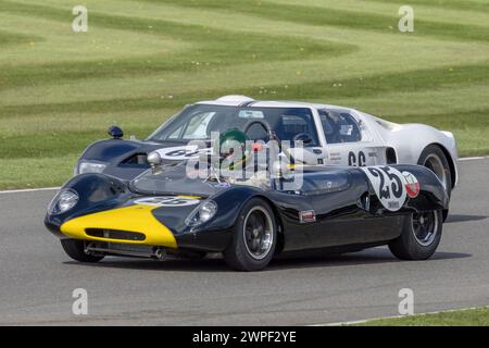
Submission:
POLYGON ((438 252, 402 262, 386 248, 277 260, 264 272, 220 259, 72 262, 43 227, 53 191, 0 194, 0 324, 323 324, 489 304, 489 160, 460 163, 461 182, 438 252), (88 291, 88 314, 72 291, 88 291))

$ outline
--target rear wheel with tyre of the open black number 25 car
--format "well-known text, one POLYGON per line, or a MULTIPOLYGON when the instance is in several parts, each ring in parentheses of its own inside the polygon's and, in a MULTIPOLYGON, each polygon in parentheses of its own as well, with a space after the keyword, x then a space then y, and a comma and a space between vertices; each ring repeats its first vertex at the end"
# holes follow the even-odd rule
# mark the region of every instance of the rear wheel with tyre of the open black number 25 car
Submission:
POLYGON ((426 260, 440 244, 443 214, 441 210, 412 213, 404 221, 401 235, 389 244, 401 260, 426 260))

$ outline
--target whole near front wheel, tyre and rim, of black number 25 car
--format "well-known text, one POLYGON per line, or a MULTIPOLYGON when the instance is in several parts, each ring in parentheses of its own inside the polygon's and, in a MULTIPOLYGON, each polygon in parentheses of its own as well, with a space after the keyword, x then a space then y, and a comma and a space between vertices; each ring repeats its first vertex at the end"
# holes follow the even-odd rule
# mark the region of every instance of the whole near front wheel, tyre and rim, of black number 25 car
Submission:
POLYGON ((224 251, 227 264, 238 271, 260 271, 272 260, 277 245, 277 224, 272 208, 253 198, 242 208, 233 243, 224 251))

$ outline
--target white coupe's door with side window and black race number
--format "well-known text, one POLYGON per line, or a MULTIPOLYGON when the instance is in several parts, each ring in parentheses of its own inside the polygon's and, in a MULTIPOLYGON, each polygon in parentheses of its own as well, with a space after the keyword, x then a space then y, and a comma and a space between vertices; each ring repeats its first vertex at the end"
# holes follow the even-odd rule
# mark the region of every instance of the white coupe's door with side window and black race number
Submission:
POLYGON ((366 125, 346 110, 317 110, 326 138, 326 164, 365 166, 385 163, 385 147, 366 125))

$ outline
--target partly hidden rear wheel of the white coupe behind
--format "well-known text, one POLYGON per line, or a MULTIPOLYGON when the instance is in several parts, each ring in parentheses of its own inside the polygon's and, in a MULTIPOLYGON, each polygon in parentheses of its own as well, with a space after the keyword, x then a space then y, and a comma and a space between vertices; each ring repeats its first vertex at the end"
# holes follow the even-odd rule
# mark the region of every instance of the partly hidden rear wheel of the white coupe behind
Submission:
POLYGON ((427 146, 419 156, 419 161, 417 161, 417 164, 426 166, 434 172, 440 179, 441 184, 443 184, 443 187, 450 197, 452 191, 452 176, 450 164, 443 150, 441 150, 441 148, 437 145, 427 146))

